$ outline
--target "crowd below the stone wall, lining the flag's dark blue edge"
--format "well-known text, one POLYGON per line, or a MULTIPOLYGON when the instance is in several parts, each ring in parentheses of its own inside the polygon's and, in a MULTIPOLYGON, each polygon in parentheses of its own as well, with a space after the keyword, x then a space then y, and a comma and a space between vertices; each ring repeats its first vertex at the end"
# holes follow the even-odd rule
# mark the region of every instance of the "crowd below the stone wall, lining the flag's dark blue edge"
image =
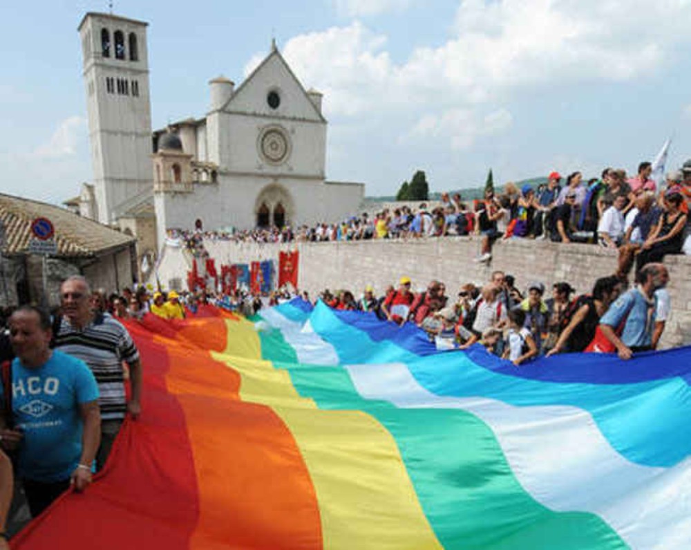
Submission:
POLYGON ((521 292, 513 276, 495 271, 486 284, 464 284, 457 295, 448 295, 436 280, 415 293, 410 277, 401 277, 380 296, 366 286, 359 299, 348 290, 327 290, 319 299, 333 309, 370 312, 382 322, 413 323, 439 349, 480 343, 520 365, 564 352, 616 352, 629 359, 656 349, 670 313, 668 281, 667 268, 649 262, 636 273, 634 288, 614 274, 578 295, 566 281, 553 283, 551 292, 533 281, 521 292))

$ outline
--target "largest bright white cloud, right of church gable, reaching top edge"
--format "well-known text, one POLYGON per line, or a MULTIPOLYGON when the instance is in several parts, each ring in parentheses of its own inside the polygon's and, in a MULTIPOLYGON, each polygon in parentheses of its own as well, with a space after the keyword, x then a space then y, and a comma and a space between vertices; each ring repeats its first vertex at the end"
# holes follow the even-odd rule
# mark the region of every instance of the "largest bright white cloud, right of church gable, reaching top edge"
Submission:
POLYGON ((283 53, 337 116, 401 105, 448 109, 503 102, 516 87, 645 77, 673 62, 675 46, 690 39, 683 29, 690 17, 686 0, 464 0, 448 40, 415 48, 401 64, 386 51, 386 36, 360 21, 296 36, 283 53), (664 32, 651 21, 664 21, 664 32))

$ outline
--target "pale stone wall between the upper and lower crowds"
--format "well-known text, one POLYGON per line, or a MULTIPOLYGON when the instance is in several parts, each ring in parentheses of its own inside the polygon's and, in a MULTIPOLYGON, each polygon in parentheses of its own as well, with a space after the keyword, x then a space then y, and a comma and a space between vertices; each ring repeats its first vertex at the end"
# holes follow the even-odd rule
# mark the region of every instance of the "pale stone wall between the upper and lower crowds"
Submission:
MULTIPOLYGON (((224 241, 207 245, 211 257, 221 264, 257 259, 278 262, 278 250, 291 248, 224 241)), ((587 293, 595 279, 614 273, 617 259, 616 251, 593 245, 511 239, 495 244, 490 264, 477 264, 473 258, 480 249, 478 237, 299 243, 298 248, 300 288, 312 297, 324 288, 348 288, 357 296, 366 284, 382 293, 401 275, 413 279, 414 288, 439 279, 448 287, 447 293, 455 295, 466 282, 489 281, 495 270, 511 273, 522 291, 533 280, 548 289, 554 282, 566 280, 578 293, 587 293)), ((668 256, 665 264, 670 269, 672 315, 662 346, 691 344, 691 257, 668 256)))

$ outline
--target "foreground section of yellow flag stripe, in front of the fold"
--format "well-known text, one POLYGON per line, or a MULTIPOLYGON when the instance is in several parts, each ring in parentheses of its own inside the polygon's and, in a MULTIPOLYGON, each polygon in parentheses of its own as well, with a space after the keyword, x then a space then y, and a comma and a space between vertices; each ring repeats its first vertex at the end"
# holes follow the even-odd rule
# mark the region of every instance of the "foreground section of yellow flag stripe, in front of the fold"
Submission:
POLYGON ((310 472, 325 548, 441 548, 391 434, 359 411, 277 407, 310 472))

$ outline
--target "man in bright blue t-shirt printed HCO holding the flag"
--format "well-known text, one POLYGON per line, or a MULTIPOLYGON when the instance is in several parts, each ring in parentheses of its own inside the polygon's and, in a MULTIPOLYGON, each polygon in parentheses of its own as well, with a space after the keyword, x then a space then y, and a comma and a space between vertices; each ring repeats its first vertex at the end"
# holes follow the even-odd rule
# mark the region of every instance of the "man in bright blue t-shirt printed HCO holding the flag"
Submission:
MULTIPOLYGON (((36 517, 70 484, 83 491, 100 443, 98 386, 84 361, 51 350, 50 317, 23 306, 10 318, 12 418, 1 419, 0 443, 17 449, 17 466, 36 517)), ((5 392, 2 385, 2 395, 5 392)), ((4 410, 8 407, 3 407, 4 410)))

